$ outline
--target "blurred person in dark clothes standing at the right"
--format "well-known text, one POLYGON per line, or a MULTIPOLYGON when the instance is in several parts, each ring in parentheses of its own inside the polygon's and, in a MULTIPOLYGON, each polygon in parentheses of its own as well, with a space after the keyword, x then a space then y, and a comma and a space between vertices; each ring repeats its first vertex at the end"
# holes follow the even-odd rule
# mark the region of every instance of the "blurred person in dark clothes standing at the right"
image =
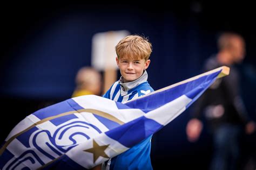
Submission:
POLYGON ((251 134, 255 123, 247 115, 239 93, 239 72, 235 63, 245 58, 245 41, 236 33, 225 32, 218 39, 219 51, 204 64, 204 71, 230 67, 230 75, 217 79, 194 103, 192 119, 186 127, 189 141, 196 141, 203 130, 203 116, 213 137, 214 153, 210 169, 237 169, 240 136, 251 134))

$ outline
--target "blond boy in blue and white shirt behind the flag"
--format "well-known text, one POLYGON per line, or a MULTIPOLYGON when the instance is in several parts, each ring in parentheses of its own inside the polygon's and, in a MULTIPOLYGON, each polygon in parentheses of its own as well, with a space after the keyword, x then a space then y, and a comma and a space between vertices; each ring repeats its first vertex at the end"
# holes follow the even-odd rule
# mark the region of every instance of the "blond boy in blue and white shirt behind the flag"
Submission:
MULTIPOLYGON (((127 36, 116 46, 120 80, 103 95, 117 102, 126 102, 153 91, 147 82, 146 69, 150 65, 152 45, 144 37, 127 36)), ((152 169, 150 160, 151 137, 140 141, 129 150, 103 164, 106 169, 152 169), (106 167, 105 167, 106 166, 106 167)))

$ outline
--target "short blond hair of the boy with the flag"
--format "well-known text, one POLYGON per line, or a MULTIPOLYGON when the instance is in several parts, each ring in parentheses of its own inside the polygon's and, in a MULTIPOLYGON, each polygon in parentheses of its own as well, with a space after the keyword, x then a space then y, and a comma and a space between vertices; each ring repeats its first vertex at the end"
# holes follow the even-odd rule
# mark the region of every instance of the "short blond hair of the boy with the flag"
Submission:
POLYGON ((142 36, 127 36, 120 40, 116 46, 118 59, 127 56, 132 59, 148 60, 152 52, 152 45, 149 39, 142 36))

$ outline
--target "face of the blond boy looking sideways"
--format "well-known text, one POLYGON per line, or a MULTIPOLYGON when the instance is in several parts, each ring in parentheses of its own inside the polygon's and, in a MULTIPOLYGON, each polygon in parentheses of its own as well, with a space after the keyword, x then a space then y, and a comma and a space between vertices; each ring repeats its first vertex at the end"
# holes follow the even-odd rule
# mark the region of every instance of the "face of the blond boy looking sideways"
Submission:
POLYGON ((133 60, 128 57, 122 57, 120 59, 116 58, 116 61, 125 83, 138 79, 140 76, 142 76, 143 70, 147 69, 147 67, 150 65, 150 60, 133 60))

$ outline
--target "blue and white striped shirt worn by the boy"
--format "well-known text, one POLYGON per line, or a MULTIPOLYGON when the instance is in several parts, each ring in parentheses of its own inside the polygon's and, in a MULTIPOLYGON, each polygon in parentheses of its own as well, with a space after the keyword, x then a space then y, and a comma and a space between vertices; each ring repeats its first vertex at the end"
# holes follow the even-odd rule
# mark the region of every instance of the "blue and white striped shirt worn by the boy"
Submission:
MULTIPOLYGON (((123 83, 121 77, 103 97, 124 103, 152 91, 154 90, 147 82, 147 72, 145 70, 139 79, 132 82, 123 83)), ((150 160, 151 138, 152 135, 129 150, 111 158, 107 162, 106 169, 152 169, 150 160)))

